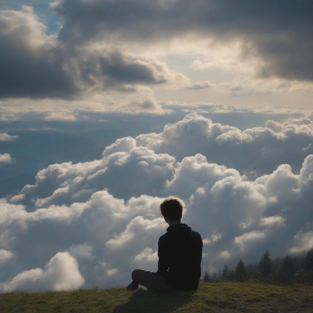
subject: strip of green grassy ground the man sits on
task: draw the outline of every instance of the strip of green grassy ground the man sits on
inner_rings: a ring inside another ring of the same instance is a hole
[[[166,294],[153,290],[12,292],[0,295],[1,313],[195,313],[313,312],[313,286],[200,283],[196,292]]]

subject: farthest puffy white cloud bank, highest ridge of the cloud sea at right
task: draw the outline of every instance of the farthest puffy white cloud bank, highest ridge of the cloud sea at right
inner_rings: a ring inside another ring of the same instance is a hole
[[[270,173],[282,163],[300,170],[303,157],[313,152],[310,148],[301,151],[313,142],[312,114],[290,118],[284,123],[267,121],[264,127],[242,131],[190,113],[183,120],[164,126],[161,133],[139,135],[136,141],[137,146],[146,146],[158,153],[167,152],[178,160],[201,153],[209,162],[239,171]],[[291,151],[290,146],[293,147]]]

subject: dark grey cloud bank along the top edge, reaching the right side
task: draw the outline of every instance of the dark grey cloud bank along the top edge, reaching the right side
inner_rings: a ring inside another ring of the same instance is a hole
[[[52,7],[64,18],[63,42],[155,42],[187,33],[242,39],[242,58],[257,54],[266,63],[259,75],[313,80],[312,1],[59,0]]]

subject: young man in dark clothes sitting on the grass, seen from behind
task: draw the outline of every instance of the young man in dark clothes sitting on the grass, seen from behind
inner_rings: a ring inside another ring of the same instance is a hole
[[[201,277],[202,238],[182,223],[182,203],[177,198],[165,199],[160,209],[169,227],[159,238],[158,270],[135,269],[127,289],[135,290],[140,284],[163,291],[197,290]]]

